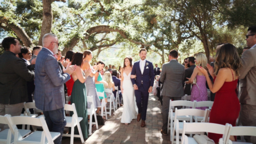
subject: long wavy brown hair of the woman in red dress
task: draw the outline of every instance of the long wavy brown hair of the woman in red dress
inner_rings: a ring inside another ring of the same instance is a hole
[[[217,76],[219,70],[224,67],[233,69],[236,71],[236,75],[239,76],[238,70],[241,66],[241,59],[236,47],[230,43],[220,45],[219,49],[217,49],[214,63],[215,76]]]

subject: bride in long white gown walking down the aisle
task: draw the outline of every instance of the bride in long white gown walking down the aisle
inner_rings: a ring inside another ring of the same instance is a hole
[[[123,68],[121,68],[121,92],[123,97],[121,123],[125,123],[125,125],[128,125],[133,119],[137,118],[134,88],[131,81],[132,61],[133,59],[130,56],[124,58]]]

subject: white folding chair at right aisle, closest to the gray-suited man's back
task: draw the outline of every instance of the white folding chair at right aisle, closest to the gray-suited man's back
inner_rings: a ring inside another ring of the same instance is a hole
[[[170,136],[173,134],[173,121],[174,121],[174,116],[175,112],[173,112],[173,109],[175,106],[184,106],[184,107],[191,107],[195,108],[196,106],[196,101],[191,102],[191,101],[172,101],[170,100],[170,105],[169,105],[169,113],[168,113],[168,124],[167,124],[167,133],[169,132],[170,128]],[[179,116],[178,119],[180,121],[190,121],[191,116]]]

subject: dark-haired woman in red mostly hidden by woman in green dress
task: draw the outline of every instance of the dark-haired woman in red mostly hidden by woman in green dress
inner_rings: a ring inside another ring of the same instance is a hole
[[[67,67],[67,66],[65,66],[65,64],[64,64],[64,61],[65,61],[65,60],[66,60],[67,62],[70,61],[70,62],[72,63],[72,57],[73,57],[74,54],[75,54],[74,51],[68,51],[68,52],[66,53],[66,56],[65,56],[64,60],[61,62],[64,67]],[[65,62],[66,62],[66,61],[65,61]],[[72,92],[72,89],[73,89],[73,85],[74,85],[74,80],[73,80],[73,78],[72,78],[72,75],[71,75],[70,77],[71,77],[71,79],[66,82],[68,96],[71,95],[71,92]]]

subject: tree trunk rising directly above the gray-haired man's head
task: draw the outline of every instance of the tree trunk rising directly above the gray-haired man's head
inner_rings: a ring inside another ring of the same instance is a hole
[[[42,27],[41,27],[41,35],[38,41],[38,45],[42,45],[42,37],[45,34],[51,33],[52,31],[52,21],[53,21],[53,14],[52,14],[52,0],[42,0]]]

